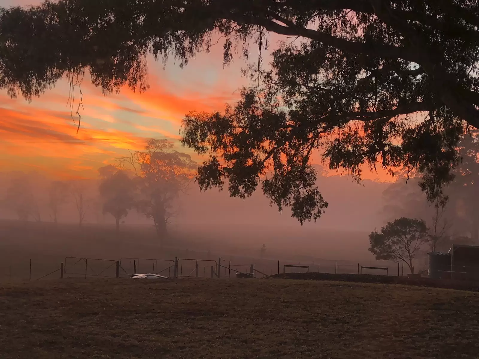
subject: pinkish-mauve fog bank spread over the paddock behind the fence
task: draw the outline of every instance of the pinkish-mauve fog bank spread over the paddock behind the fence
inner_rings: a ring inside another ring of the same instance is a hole
[[[105,168],[103,175],[117,170]],[[0,244],[2,254],[8,257],[8,252],[15,250],[18,256],[26,256],[26,253],[22,254],[25,247],[37,248],[36,252],[55,252],[60,241],[63,248],[61,255],[76,257],[97,258],[100,253],[113,255],[112,249],[108,249],[113,245],[115,255],[120,257],[143,246],[138,249],[137,256],[150,258],[148,254],[151,248],[155,248],[156,258],[159,258],[158,248],[165,246],[171,251],[168,254],[164,252],[164,256],[172,256],[175,250],[190,249],[222,256],[259,258],[260,248],[264,245],[267,258],[374,261],[373,254],[368,251],[368,235],[386,222],[409,216],[422,218],[429,228],[433,227],[434,207],[425,200],[417,179],[411,179],[408,184],[402,177],[395,183],[364,180],[358,184],[348,176],[325,175],[319,166],[317,170],[318,187],[329,202],[317,222],[300,225],[297,219],[291,217],[288,208],[279,213],[261,189],[250,198],[241,200],[229,197],[227,190],[201,192],[198,185],[189,180],[171,205],[174,211],[171,211],[164,233],[151,216],[148,218],[148,211],[137,210],[138,206],[131,205],[127,215],[119,219],[119,232],[116,234],[115,218],[111,211],[104,210],[106,200],[104,193],[100,193],[104,178],[100,174],[96,179],[56,182],[57,179],[41,172],[1,172],[0,218],[4,220],[3,224],[18,223],[21,228],[31,223],[28,233],[19,234],[11,228],[4,231]],[[51,232],[54,227],[48,227],[50,234],[46,234],[45,230],[40,234],[38,228],[43,227],[33,227],[32,224],[54,224],[52,188],[58,188],[58,183],[65,185],[65,191],[56,197],[57,222],[71,229],[64,229],[70,234],[55,239],[50,238],[57,236]],[[82,201],[80,212],[79,193]],[[445,250],[451,240],[468,244],[477,241],[474,238],[476,230],[468,229],[477,227],[466,225],[460,216],[462,202],[456,197],[452,197],[441,219],[443,227],[449,231],[449,239],[444,240],[444,248],[441,247]],[[24,210],[24,206],[28,209]],[[22,218],[25,211],[28,214]],[[475,222],[472,221],[472,224]],[[88,231],[79,231],[79,227],[85,226]],[[94,241],[93,237],[96,238]],[[453,237],[458,239],[451,239]]]

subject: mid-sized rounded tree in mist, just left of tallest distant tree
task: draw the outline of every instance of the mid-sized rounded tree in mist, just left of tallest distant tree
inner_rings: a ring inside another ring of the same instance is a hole
[[[136,183],[125,171],[111,165],[99,168],[98,172],[102,178],[99,191],[103,199],[103,213],[114,217],[118,231],[121,219],[135,205]]]

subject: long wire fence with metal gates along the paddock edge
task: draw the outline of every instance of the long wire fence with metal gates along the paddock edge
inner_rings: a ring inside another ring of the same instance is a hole
[[[249,263],[248,263],[249,262]],[[463,278],[466,269],[461,269]],[[449,271],[451,271],[449,269]],[[344,260],[294,261],[274,259],[204,258],[80,258],[66,257],[62,263],[45,264],[35,260],[0,266],[0,282],[48,280],[69,277],[129,278],[135,274],[155,273],[168,278],[263,278],[277,273],[322,272],[337,274],[376,274],[405,276],[409,270],[391,262],[353,262]],[[479,272],[479,271],[478,271]],[[444,275],[447,276],[447,275]],[[453,278],[460,275],[453,274]],[[478,277],[479,278],[479,277]]]

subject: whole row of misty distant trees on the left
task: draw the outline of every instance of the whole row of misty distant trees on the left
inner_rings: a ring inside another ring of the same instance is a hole
[[[54,223],[69,204],[78,214],[80,227],[89,211],[109,213],[115,219],[117,231],[122,220],[135,209],[153,221],[161,243],[170,219],[178,213],[176,200],[194,177],[196,163],[189,155],[175,151],[167,140],[151,139],[143,151],[117,158],[116,164],[99,168],[99,181],[53,180],[46,185],[46,191],[34,191],[32,176],[13,176],[1,204],[25,222],[41,222],[41,213],[46,211],[40,208],[44,208]]]

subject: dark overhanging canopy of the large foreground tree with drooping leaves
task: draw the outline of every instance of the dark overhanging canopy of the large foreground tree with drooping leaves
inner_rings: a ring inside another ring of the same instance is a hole
[[[25,98],[90,71],[105,92],[146,90],[146,56],[183,63],[224,39],[227,65],[263,34],[297,38],[225,112],[188,114],[182,144],[209,155],[197,180],[251,195],[262,181],[301,223],[327,202],[310,165],[423,173],[434,200],[457,142],[479,128],[479,2],[452,0],[60,0],[0,14],[0,87]]]

